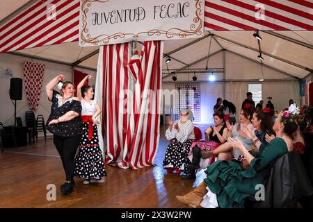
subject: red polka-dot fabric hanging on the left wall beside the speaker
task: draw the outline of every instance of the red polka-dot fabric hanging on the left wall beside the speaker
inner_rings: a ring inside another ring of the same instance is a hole
[[[45,65],[35,62],[23,62],[24,87],[29,108],[36,111],[41,96],[42,81],[45,76]]]

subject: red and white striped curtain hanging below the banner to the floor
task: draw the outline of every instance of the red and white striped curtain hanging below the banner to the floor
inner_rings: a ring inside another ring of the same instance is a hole
[[[163,42],[144,42],[140,58],[129,44],[101,46],[95,99],[102,105],[106,164],[138,169],[153,164],[159,145]],[[100,130],[99,130],[100,131]]]

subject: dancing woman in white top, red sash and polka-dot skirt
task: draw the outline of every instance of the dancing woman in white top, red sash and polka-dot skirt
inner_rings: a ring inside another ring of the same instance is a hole
[[[83,86],[88,78],[86,76],[77,85],[77,97],[81,100],[81,120],[83,121],[83,135],[79,143],[79,151],[75,158],[74,176],[84,178],[84,185],[89,182],[104,182],[106,171],[102,150],[99,147],[96,117],[101,113],[99,104],[93,99],[93,88],[89,85]],[[83,97],[83,98],[82,98]]]

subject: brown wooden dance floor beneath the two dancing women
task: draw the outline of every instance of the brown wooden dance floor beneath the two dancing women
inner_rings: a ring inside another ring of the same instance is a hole
[[[203,130],[202,130],[203,132]],[[72,194],[62,196],[65,176],[52,139],[38,140],[0,153],[0,207],[161,207],[182,208],[175,196],[191,191],[200,181],[182,180],[162,167],[168,141],[161,126],[156,166],[136,171],[106,166],[104,183],[83,185],[75,178]],[[47,200],[47,185],[56,185],[56,200]]]

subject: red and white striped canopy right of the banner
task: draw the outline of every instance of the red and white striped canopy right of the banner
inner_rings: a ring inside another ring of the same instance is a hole
[[[312,0],[206,0],[204,29],[312,31],[312,2]]]

